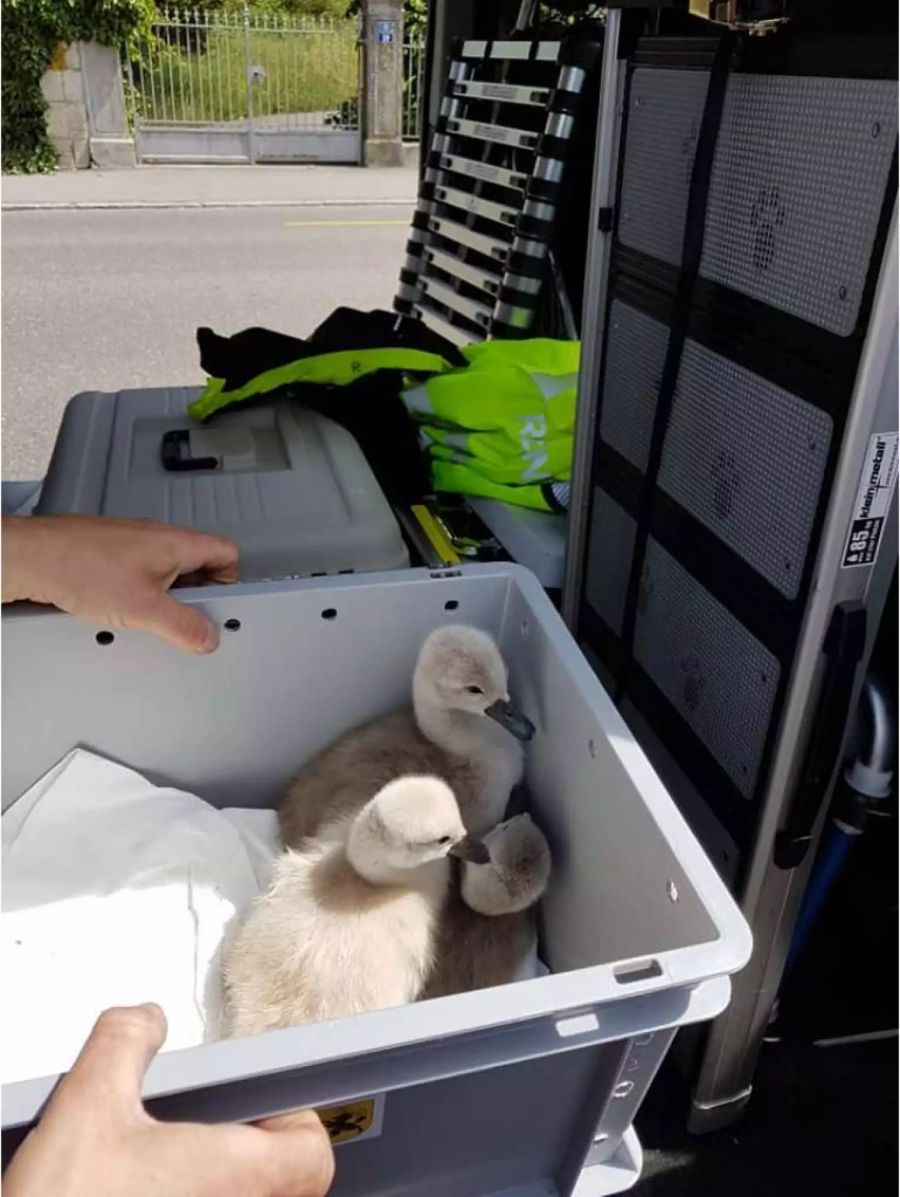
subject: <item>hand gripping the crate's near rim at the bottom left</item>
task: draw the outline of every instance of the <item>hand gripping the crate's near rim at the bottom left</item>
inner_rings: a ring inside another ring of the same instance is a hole
[[[4,1177],[4,1197],[323,1197],[334,1154],[305,1110],[256,1125],[160,1123],[141,1104],[157,1005],[107,1010]]]

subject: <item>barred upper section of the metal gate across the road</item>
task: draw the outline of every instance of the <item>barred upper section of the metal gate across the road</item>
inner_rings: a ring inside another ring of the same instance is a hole
[[[359,22],[163,10],[127,69],[136,124],[359,128]]]

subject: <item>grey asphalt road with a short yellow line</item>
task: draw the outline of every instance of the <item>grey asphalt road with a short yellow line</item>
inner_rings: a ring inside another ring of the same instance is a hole
[[[43,476],[81,390],[200,384],[195,330],[304,336],[390,306],[412,208],[5,212],[2,476]]]

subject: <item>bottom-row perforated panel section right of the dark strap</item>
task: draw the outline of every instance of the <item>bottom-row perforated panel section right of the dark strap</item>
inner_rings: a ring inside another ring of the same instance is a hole
[[[652,537],[640,581],[634,657],[749,797],[780,667]]]

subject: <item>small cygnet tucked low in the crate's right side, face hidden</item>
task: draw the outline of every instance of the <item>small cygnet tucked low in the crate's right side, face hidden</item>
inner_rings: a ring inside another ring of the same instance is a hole
[[[440,916],[437,959],[422,998],[466,994],[517,980],[535,949],[535,905],[551,876],[551,850],[528,814],[484,839],[488,859],[462,865]]]

